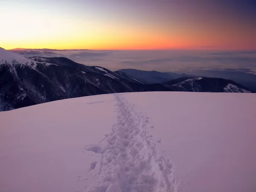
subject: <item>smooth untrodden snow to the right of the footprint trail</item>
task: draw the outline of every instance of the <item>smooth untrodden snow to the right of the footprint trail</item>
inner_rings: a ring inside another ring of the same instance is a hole
[[[179,180],[179,192],[256,191],[256,94],[137,93],[125,99],[141,108],[162,139]],[[175,102],[174,102],[175,101]]]

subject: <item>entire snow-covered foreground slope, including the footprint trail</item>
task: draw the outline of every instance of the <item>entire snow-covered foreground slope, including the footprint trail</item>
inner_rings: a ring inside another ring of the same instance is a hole
[[[0,112],[1,192],[255,192],[255,103],[144,92]]]

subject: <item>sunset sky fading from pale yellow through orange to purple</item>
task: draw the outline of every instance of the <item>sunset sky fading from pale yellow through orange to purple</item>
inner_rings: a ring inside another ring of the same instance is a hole
[[[0,0],[5,49],[256,49],[255,0]]]

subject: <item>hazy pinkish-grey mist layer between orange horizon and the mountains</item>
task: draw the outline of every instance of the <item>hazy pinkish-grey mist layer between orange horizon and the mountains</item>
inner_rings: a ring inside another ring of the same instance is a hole
[[[195,69],[256,71],[256,51],[85,50],[57,53],[82,64],[102,66],[110,70],[133,68],[163,72]]]

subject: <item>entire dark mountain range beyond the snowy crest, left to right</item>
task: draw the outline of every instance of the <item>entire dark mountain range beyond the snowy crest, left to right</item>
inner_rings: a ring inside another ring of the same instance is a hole
[[[250,92],[226,79],[157,71],[112,72],[64,57],[25,57],[0,48],[0,111],[59,99],[141,91]]]

